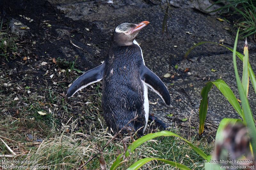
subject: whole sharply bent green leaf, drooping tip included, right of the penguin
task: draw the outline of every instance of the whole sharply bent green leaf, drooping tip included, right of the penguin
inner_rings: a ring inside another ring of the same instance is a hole
[[[233,91],[227,85],[227,83],[221,79],[217,79],[216,81],[209,81],[206,83],[206,86],[202,89],[201,96],[202,100],[199,106],[199,135],[202,135],[204,132],[204,122],[207,115],[208,110],[208,93],[212,89],[212,86],[215,85],[223,96],[228,100],[228,102],[233,106],[236,112],[244,118],[243,111],[234,95]]]

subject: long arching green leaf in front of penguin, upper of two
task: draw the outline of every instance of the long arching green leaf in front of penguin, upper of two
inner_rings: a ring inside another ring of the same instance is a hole
[[[141,144],[147,142],[148,140],[151,140],[153,138],[159,137],[159,136],[175,136],[178,137],[182,140],[184,140],[192,149],[194,149],[202,158],[206,159],[207,155],[199,148],[197,148],[195,145],[193,145],[192,143],[190,143],[188,140],[186,140],[185,138],[182,138],[181,136],[177,135],[176,133],[173,133],[171,131],[160,131],[160,132],[156,132],[156,133],[149,133],[137,140],[135,140],[134,142],[132,142],[131,145],[128,146],[127,151],[125,152],[125,157],[128,157],[130,155],[130,153],[132,153],[138,146],[140,146]],[[110,170],[115,170],[123,161],[123,153],[119,154],[116,158],[116,161],[112,164],[112,166],[110,167]]]

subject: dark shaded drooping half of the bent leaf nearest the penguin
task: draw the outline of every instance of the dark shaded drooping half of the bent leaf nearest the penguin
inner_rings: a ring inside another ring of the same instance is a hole
[[[199,135],[202,135],[204,132],[204,122],[208,110],[208,93],[212,89],[212,82],[207,82],[206,86],[201,91],[202,100],[199,106]]]

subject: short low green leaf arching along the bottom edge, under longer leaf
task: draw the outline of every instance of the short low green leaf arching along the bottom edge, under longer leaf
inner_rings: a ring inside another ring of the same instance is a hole
[[[144,164],[146,164],[147,162],[151,161],[151,160],[160,160],[166,164],[175,166],[176,168],[182,169],[182,170],[190,170],[187,166],[170,161],[170,160],[165,160],[165,159],[160,159],[160,158],[143,158],[138,160],[137,162],[135,162],[134,164],[132,164],[129,168],[127,168],[127,170],[137,170],[139,169],[141,166],[143,166]]]

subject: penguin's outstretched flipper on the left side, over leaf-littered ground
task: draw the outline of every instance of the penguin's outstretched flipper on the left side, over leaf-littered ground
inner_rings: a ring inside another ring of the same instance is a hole
[[[78,77],[69,87],[67,97],[72,97],[77,91],[84,89],[92,83],[100,81],[103,78],[105,65],[104,62],[100,66],[95,67]]]

